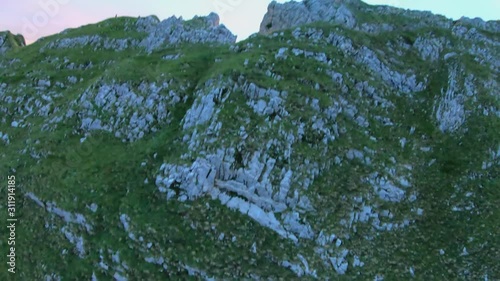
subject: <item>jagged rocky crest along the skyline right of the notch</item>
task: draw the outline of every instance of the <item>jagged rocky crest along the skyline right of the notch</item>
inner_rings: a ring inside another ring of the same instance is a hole
[[[391,25],[390,21],[386,20],[390,16],[400,20],[399,22],[393,20],[397,26]],[[390,6],[371,6],[360,0],[305,0],[283,4],[271,2],[261,22],[260,33],[270,34],[311,22],[331,22],[367,33],[380,33],[394,29],[418,30],[424,27],[452,28],[454,24],[462,23],[490,32],[500,30],[499,21],[484,22],[479,18],[463,17],[453,23],[450,19],[430,12]]]

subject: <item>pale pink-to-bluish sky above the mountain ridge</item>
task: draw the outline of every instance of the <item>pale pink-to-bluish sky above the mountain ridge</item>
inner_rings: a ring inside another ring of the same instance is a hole
[[[70,27],[119,16],[172,15],[190,19],[216,12],[238,41],[258,32],[271,0],[0,0],[0,31],[21,33],[27,43]],[[277,2],[287,2],[278,0]],[[458,19],[461,16],[500,19],[500,0],[365,0],[368,4],[427,10]]]

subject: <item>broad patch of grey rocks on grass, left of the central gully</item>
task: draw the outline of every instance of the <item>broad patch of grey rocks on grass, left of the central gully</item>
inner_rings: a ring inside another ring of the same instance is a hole
[[[157,130],[155,124],[168,123],[168,108],[182,101],[170,84],[142,83],[138,89],[126,83],[101,84],[97,90],[86,90],[71,104],[67,115],[78,111],[80,129],[84,131],[105,130],[124,141],[141,139]],[[168,94],[161,94],[167,91]],[[101,120],[95,108],[113,117]]]

